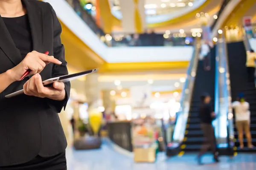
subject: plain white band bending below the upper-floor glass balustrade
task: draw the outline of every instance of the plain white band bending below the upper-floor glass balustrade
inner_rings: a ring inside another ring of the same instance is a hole
[[[102,43],[65,0],[44,0],[58,18],[106,62],[190,61],[193,47],[113,47]]]

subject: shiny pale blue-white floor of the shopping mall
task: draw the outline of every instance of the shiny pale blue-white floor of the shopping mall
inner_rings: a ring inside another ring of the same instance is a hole
[[[67,149],[68,170],[256,170],[256,154],[238,154],[231,160],[222,156],[218,164],[207,155],[203,161],[204,165],[198,165],[195,155],[166,158],[160,153],[154,164],[134,163],[132,157],[122,155],[105,144],[99,150]]]

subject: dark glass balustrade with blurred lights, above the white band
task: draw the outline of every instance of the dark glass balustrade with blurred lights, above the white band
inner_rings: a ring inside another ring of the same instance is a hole
[[[86,10],[79,0],[66,0],[74,9],[76,14],[98,35],[99,39],[109,47],[136,47],[136,46],[191,46],[194,45],[194,37],[188,37],[185,33],[155,34],[127,34],[115,33],[105,34],[105,32],[96,24],[93,17],[95,11]],[[149,30],[148,30],[149,31]],[[86,33],[85,33],[86,34]]]

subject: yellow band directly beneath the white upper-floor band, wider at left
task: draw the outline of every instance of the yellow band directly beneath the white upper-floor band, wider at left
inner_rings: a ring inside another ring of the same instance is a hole
[[[60,21],[61,22],[61,21]],[[61,22],[61,40],[65,45],[66,60],[71,68],[86,70],[99,68],[105,72],[136,72],[152,70],[170,70],[187,68],[189,62],[138,62],[138,63],[107,63],[90,47],[82,42],[70,29]]]

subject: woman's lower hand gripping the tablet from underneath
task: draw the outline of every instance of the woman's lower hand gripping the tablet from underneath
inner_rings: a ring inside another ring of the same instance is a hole
[[[24,93],[28,96],[49,98],[62,101],[65,99],[66,92],[63,82],[54,82],[53,87],[44,87],[40,74],[35,74],[24,85]]]

